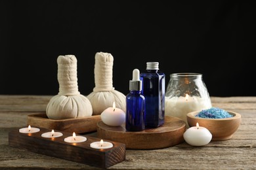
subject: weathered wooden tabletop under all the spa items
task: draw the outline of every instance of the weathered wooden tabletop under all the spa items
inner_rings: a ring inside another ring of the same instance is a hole
[[[0,169],[98,169],[9,146],[9,131],[27,126],[28,114],[45,112],[51,97],[0,95]],[[211,97],[211,102],[242,115],[232,139],[200,147],[181,143],[158,150],[126,150],[125,161],[109,169],[256,169],[256,97]]]

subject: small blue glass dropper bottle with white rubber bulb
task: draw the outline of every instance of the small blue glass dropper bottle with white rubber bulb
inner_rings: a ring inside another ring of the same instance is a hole
[[[145,97],[141,94],[139,69],[133,70],[133,80],[129,82],[130,93],[126,95],[125,129],[142,131],[145,129]]]

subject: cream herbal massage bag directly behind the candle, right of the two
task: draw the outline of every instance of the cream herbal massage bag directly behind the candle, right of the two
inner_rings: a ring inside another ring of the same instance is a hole
[[[125,95],[113,87],[114,58],[110,53],[95,54],[95,88],[87,95],[93,106],[93,115],[101,114],[116,103],[116,107],[125,111]]]

